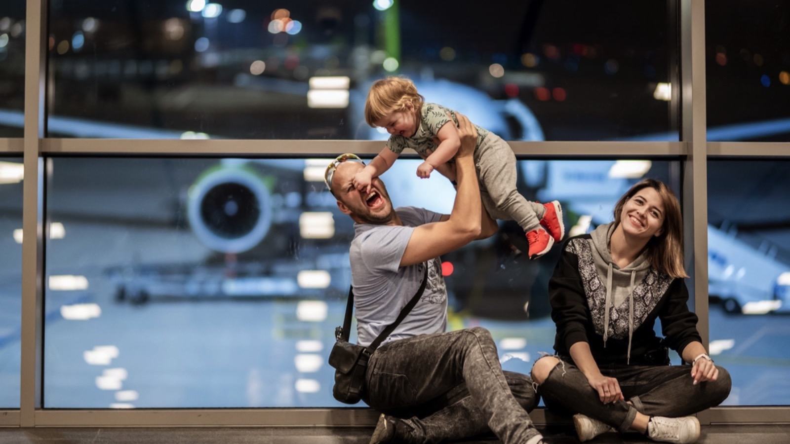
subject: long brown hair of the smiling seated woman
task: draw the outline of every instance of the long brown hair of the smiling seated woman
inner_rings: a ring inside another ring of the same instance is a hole
[[[688,277],[683,266],[683,214],[675,193],[664,182],[644,179],[631,186],[630,190],[615,205],[615,228],[620,224],[623,205],[645,188],[653,188],[664,204],[664,225],[660,235],[653,236],[645,248],[650,265],[670,277]]]

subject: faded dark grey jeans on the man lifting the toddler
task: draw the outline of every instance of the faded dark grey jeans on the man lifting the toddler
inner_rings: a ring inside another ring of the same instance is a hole
[[[371,357],[363,399],[406,418],[409,442],[494,431],[515,444],[539,435],[527,413],[537,404],[532,379],[502,372],[491,333],[480,327],[382,345]]]

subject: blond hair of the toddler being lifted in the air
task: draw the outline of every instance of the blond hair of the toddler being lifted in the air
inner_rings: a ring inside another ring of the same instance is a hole
[[[365,121],[375,127],[376,122],[389,113],[404,111],[407,103],[414,109],[423,107],[425,98],[417,92],[417,87],[405,77],[386,77],[373,82],[365,101]]]

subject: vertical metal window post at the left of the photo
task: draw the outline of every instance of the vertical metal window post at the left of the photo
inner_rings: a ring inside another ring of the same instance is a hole
[[[20,425],[36,425],[42,371],[42,178],[44,82],[47,53],[45,0],[27,0],[24,55],[24,182],[22,207],[22,313]]]

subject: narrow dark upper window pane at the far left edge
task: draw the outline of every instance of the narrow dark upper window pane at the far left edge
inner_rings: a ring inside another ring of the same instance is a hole
[[[0,137],[22,137],[24,0],[0,3]]]

